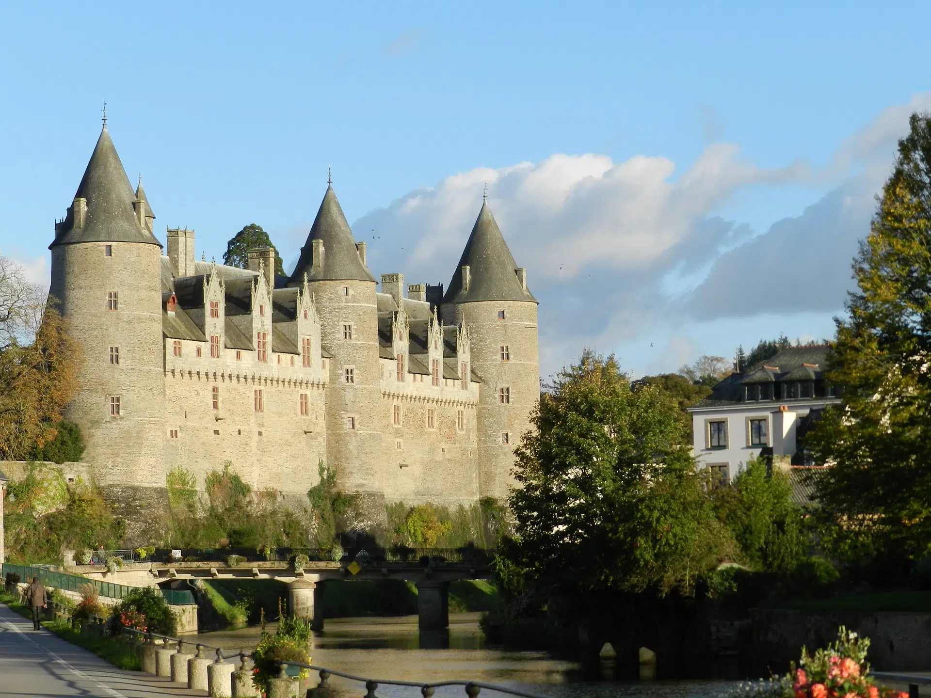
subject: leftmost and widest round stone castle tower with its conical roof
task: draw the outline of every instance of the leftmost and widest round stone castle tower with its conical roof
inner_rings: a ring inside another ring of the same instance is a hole
[[[142,186],[132,191],[104,120],[74,202],[55,225],[50,293],[83,347],[80,387],[65,418],[80,425],[84,459],[104,495],[118,513],[134,511],[140,527],[164,512],[153,498],[165,492],[162,246],[154,219]]]

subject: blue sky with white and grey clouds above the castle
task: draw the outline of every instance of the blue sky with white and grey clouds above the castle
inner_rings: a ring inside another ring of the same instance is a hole
[[[926,3],[0,3],[0,254],[47,250],[107,104],[128,176],[290,272],[332,168],[376,277],[449,283],[482,191],[541,373],[820,340],[911,112]]]

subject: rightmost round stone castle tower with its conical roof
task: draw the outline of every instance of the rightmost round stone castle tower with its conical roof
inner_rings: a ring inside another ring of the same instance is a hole
[[[537,300],[484,201],[442,300],[443,320],[469,332],[481,378],[477,412],[479,493],[504,500],[514,449],[540,399]]]

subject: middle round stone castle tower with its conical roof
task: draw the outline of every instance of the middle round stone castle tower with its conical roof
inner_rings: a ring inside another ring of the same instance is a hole
[[[364,243],[356,243],[331,185],[288,285],[302,285],[304,275],[320,316],[321,346],[332,356],[328,464],[335,466],[342,490],[360,494],[371,512],[384,511],[376,282],[365,264]]]

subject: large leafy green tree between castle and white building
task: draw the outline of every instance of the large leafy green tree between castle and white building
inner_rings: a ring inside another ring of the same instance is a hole
[[[516,537],[499,570],[563,595],[663,596],[730,555],[675,402],[653,385],[632,389],[614,356],[587,351],[532,423],[516,451]]]

